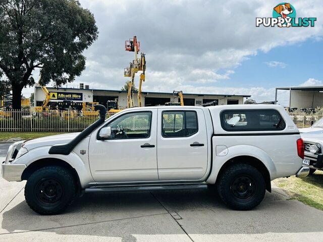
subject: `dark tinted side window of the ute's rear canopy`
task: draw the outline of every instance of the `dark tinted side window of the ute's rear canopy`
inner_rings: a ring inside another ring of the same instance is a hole
[[[286,127],[275,109],[224,110],[220,115],[226,131],[280,131]]]

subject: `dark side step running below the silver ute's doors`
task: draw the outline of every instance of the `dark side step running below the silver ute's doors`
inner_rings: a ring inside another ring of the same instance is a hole
[[[85,193],[157,191],[157,190],[190,190],[190,189],[207,189],[207,184],[95,187],[95,188],[86,188]]]

